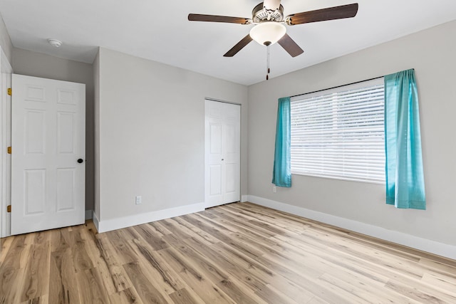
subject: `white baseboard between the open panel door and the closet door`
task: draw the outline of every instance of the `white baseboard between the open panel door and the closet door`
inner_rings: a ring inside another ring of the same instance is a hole
[[[132,216],[123,216],[116,219],[107,219],[98,221],[97,215],[93,215],[93,223],[97,227],[98,233],[121,229],[125,227],[150,223],[151,221],[160,221],[160,219],[170,219],[171,217],[191,214],[204,210],[204,203],[180,206],[170,209],[147,212],[143,214],[135,214]],[[96,223],[95,223],[96,219]]]

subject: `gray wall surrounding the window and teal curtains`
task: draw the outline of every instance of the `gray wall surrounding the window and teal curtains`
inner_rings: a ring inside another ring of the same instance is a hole
[[[249,195],[456,245],[456,21],[249,87]],[[304,54],[305,56],[305,54]],[[277,99],[415,68],[427,210],[385,204],[385,186],[293,175],[272,192]]]

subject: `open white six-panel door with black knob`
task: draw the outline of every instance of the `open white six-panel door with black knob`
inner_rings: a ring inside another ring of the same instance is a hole
[[[13,74],[11,234],[83,224],[86,85]]]

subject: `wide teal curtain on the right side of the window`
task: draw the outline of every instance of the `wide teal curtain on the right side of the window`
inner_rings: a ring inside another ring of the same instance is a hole
[[[415,70],[385,76],[386,204],[426,209]]]

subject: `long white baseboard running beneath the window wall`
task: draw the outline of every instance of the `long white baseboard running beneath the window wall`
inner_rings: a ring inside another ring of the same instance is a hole
[[[307,219],[321,221],[325,224],[338,226],[343,229],[358,232],[360,234],[366,234],[378,239],[398,243],[400,245],[415,248],[420,251],[426,251],[456,260],[456,246],[419,238],[418,236],[412,236],[410,234],[404,234],[403,232],[384,229],[382,227],[361,223],[359,221],[353,221],[351,219],[345,219],[339,216],[333,216],[331,214],[324,214],[322,212],[284,204],[279,201],[272,201],[271,199],[264,199],[259,196],[249,195],[248,201],[261,206],[266,206],[279,211],[296,214]]]

